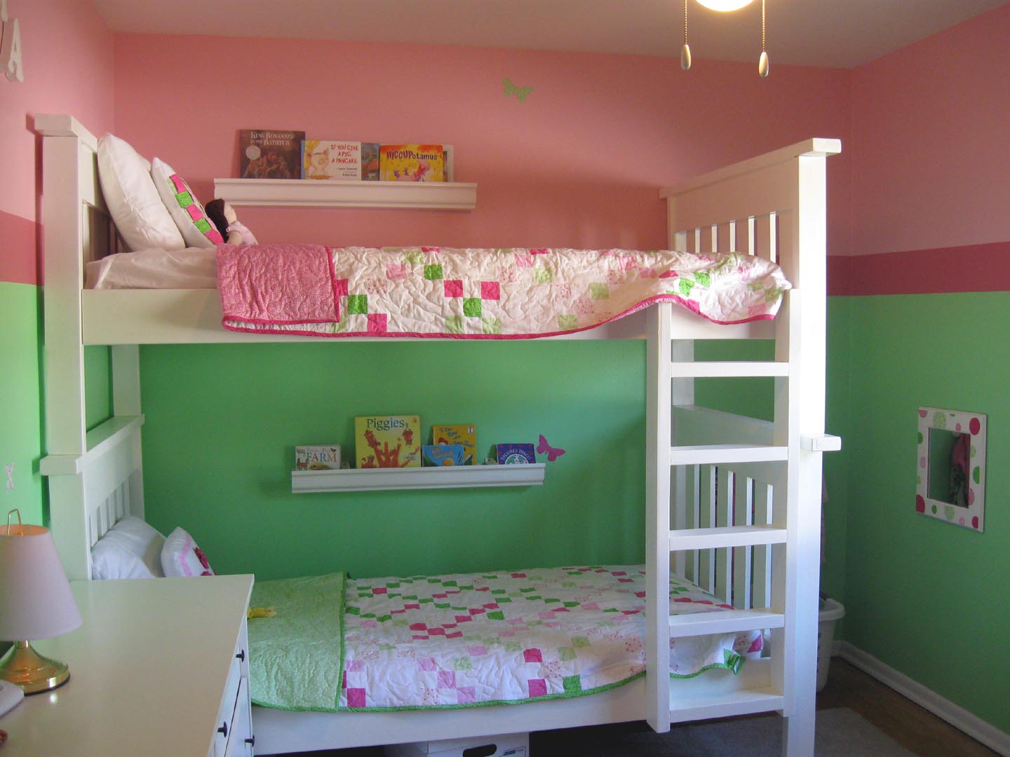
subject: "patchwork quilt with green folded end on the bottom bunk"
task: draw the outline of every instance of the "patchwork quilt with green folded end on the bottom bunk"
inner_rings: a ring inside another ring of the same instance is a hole
[[[320,712],[467,708],[581,696],[644,674],[644,569],[591,566],[257,583],[252,700]],[[672,577],[673,615],[729,606]],[[672,640],[670,674],[734,672],[761,632]]]

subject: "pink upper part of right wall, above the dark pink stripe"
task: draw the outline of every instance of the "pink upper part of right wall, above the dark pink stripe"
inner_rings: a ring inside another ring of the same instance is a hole
[[[1010,5],[852,72],[852,254],[1010,240]]]

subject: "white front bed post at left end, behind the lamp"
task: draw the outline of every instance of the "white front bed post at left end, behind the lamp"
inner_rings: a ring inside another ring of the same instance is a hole
[[[45,446],[48,455],[81,455],[87,451],[84,395],[84,348],[81,344],[81,285],[84,261],[82,197],[96,191],[83,187],[82,146],[98,148],[94,136],[70,116],[37,116],[42,134],[42,240],[45,293]],[[95,177],[91,177],[94,181]],[[46,467],[40,465],[41,472]],[[81,476],[49,476],[49,522],[59,523],[53,538],[71,578],[90,577],[87,564],[87,517]]]

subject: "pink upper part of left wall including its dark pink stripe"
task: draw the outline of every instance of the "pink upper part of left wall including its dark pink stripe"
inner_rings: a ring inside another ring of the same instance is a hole
[[[21,29],[24,82],[0,77],[0,281],[37,281],[41,196],[36,113],[73,113],[89,128],[112,127],[113,35],[90,3],[10,0]]]

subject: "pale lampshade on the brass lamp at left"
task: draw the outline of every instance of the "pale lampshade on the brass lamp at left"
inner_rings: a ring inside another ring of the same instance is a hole
[[[49,530],[0,527],[0,639],[47,639],[80,625]]]

